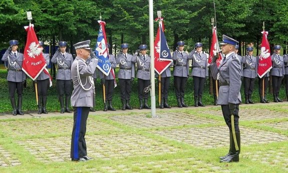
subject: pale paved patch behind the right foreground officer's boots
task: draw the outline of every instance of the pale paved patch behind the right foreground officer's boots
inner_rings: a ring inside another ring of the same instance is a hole
[[[288,140],[288,137],[253,128],[241,127],[241,145],[262,144]],[[151,133],[183,141],[193,146],[215,148],[229,145],[228,127],[185,128],[172,130],[154,130]]]

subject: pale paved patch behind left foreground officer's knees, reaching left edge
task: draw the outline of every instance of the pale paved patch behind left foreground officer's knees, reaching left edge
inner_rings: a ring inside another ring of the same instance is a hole
[[[73,119],[44,119],[40,121],[6,121],[0,122],[0,131],[6,135],[17,137],[26,135],[59,134],[72,133]],[[122,129],[97,121],[93,118],[87,120],[87,130],[89,131],[121,131]]]

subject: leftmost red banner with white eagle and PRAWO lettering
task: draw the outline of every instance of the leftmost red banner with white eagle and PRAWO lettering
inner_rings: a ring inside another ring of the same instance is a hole
[[[50,77],[50,85],[52,78],[46,68],[47,64],[39,46],[37,36],[34,31],[34,25],[24,27],[27,31],[27,42],[24,50],[24,59],[22,70],[32,79],[35,80],[39,74],[44,72]]]

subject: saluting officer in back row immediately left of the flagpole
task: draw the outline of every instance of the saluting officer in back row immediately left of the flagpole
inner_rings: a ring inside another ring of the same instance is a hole
[[[139,98],[139,109],[143,109],[143,99],[144,108],[151,109],[148,106],[148,92],[144,92],[150,84],[150,61],[151,58],[146,55],[147,45],[140,45],[138,47],[140,50],[139,56],[137,56],[137,78],[138,78],[138,98]]]

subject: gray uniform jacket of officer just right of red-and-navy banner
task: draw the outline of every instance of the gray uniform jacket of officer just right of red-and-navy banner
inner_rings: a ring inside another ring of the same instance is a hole
[[[189,59],[186,52],[182,52],[183,56],[179,51],[173,52],[172,60],[176,61],[174,63],[173,76],[188,77],[189,75]]]

